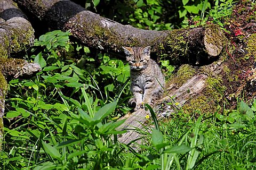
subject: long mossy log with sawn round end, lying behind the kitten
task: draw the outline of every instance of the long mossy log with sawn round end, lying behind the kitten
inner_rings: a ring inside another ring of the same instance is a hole
[[[85,10],[71,1],[19,0],[18,5],[48,27],[71,30],[89,47],[123,54],[121,46],[151,46],[151,54],[172,64],[203,64],[223,48],[223,33],[216,25],[173,31],[151,31],[122,25]]]

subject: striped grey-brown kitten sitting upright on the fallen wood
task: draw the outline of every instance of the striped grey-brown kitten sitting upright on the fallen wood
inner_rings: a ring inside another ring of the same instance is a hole
[[[150,58],[150,46],[123,47],[131,70],[130,105],[134,111],[143,108],[143,104],[154,104],[164,93],[165,78],[157,63]]]

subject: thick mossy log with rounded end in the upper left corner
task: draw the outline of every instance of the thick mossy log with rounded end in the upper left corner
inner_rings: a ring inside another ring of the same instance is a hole
[[[13,1],[0,0],[0,56],[25,52],[34,43],[34,29]]]

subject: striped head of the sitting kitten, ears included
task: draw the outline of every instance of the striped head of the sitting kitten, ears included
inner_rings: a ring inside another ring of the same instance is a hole
[[[144,70],[150,60],[150,46],[142,47],[123,47],[126,60],[129,62],[131,70]]]

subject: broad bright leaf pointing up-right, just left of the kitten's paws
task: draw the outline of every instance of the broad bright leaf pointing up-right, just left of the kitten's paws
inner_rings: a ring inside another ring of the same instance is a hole
[[[117,101],[114,101],[113,103],[109,103],[99,109],[97,113],[94,115],[94,120],[101,121],[103,118],[107,117],[110,113],[115,111],[117,105]]]

